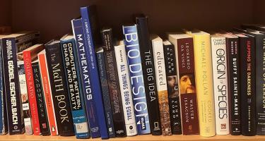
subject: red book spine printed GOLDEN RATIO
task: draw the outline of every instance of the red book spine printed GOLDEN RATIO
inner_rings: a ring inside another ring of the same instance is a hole
[[[40,135],[40,123],[37,112],[37,100],[35,94],[35,85],[33,80],[33,68],[31,66],[31,55],[30,51],[23,51],[23,59],[25,66],[25,77],[27,80],[28,88],[28,100],[30,102],[30,114],[33,121],[33,132],[34,135]]]

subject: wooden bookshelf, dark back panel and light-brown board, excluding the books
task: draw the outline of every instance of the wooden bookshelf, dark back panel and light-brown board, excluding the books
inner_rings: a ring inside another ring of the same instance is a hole
[[[182,28],[201,30],[229,30],[242,23],[265,24],[264,0],[1,0],[0,26],[11,25],[14,32],[38,30],[40,42],[61,37],[71,32],[70,20],[79,16],[79,7],[89,4],[98,6],[100,25],[113,27],[114,35],[122,37],[122,23],[131,23],[134,13],[145,13],[149,17],[151,32],[163,35],[167,31]],[[76,137],[1,135],[0,140],[77,140]],[[88,139],[88,140],[100,140]],[[224,140],[224,141],[264,141],[265,136],[200,135],[153,136],[113,138],[110,140]]]

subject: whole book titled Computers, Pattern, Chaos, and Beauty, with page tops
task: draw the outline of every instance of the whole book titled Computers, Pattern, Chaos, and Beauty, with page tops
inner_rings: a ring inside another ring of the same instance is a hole
[[[75,40],[72,35],[67,35],[60,39],[60,44],[76,138],[88,138],[90,137],[89,126],[83,102],[83,88],[80,87],[81,78],[75,56]]]

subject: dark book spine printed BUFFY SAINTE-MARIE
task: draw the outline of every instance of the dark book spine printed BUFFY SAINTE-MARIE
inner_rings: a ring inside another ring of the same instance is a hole
[[[240,110],[240,56],[238,38],[227,38],[228,52],[228,95],[230,103],[230,134],[241,134],[241,110]]]

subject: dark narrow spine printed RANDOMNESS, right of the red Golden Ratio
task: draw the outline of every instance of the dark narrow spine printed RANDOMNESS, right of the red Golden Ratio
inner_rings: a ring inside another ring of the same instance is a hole
[[[40,78],[39,62],[31,64],[33,68],[33,80],[35,84],[35,94],[37,98],[37,111],[39,114],[40,132],[42,135],[50,135],[49,133],[49,122],[47,118],[45,98],[42,89],[42,80]]]

